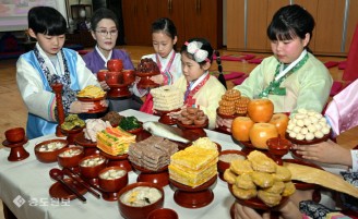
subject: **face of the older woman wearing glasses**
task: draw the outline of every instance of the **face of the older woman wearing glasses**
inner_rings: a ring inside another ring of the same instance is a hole
[[[118,29],[116,23],[110,19],[98,22],[96,29],[92,31],[93,38],[97,41],[100,51],[109,52],[116,47]]]

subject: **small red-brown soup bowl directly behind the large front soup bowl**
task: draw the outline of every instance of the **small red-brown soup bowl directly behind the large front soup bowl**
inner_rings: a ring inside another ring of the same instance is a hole
[[[122,171],[123,175],[116,178],[106,178],[108,171]],[[128,172],[121,167],[109,167],[99,171],[98,173],[98,185],[106,192],[119,192],[128,184]]]

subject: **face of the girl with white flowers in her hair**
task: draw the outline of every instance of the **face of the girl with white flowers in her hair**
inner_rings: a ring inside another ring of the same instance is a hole
[[[181,69],[182,74],[186,76],[187,82],[192,82],[198,80],[201,75],[204,74],[210,68],[210,63],[206,62],[203,66],[200,66],[198,62],[192,59],[189,59],[186,52],[181,53]]]

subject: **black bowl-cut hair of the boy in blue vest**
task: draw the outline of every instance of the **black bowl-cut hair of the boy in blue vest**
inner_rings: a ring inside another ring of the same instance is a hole
[[[49,36],[63,35],[67,31],[67,22],[62,14],[51,7],[34,7],[27,14],[28,28],[35,34]]]

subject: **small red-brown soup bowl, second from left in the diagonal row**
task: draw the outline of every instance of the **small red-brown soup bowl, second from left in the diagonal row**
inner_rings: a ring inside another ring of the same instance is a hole
[[[79,154],[71,153],[80,150]],[[84,149],[81,146],[68,147],[57,156],[59,166],[63,168],[74,168],[79,166],[80,160],[84,157]]]

